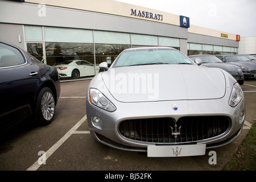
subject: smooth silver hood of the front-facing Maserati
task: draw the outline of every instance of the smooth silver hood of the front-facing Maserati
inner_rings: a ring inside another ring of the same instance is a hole
[[[225,95],[224,73],[197,65],[142,65],[102,72],[106,88],[120,102],[216,99]]]

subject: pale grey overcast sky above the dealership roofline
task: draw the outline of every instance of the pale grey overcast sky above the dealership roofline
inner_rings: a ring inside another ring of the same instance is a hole
[[[232,34],[256,36],[256,0],[116,0],[188,16],[190,23]]]

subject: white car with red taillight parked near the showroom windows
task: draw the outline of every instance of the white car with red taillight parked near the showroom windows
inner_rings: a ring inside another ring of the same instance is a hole
[[[81,76],[94,76],[94,64],[84,60],[64,61],[63,63],[56,63],[53,65],[59,72],[59,76],[79,78]],[[96,67],[96,73],[99,68]]]

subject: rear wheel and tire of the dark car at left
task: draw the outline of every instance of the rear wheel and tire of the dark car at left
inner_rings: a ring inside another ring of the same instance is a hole
[[[40,126],[49,125],[55,115],[55,97],[50,88],[40,90],[36,101],[36,122]]]

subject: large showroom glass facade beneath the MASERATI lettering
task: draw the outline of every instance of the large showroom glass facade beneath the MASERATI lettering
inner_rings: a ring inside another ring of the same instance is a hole
[[[70,60],[85,60],[96,66],[106,61],[110,65],[131,47],[180,49],[180,39],[163,36],[44,26],[24,26],[24,31],[27,51],[48,65]]]

